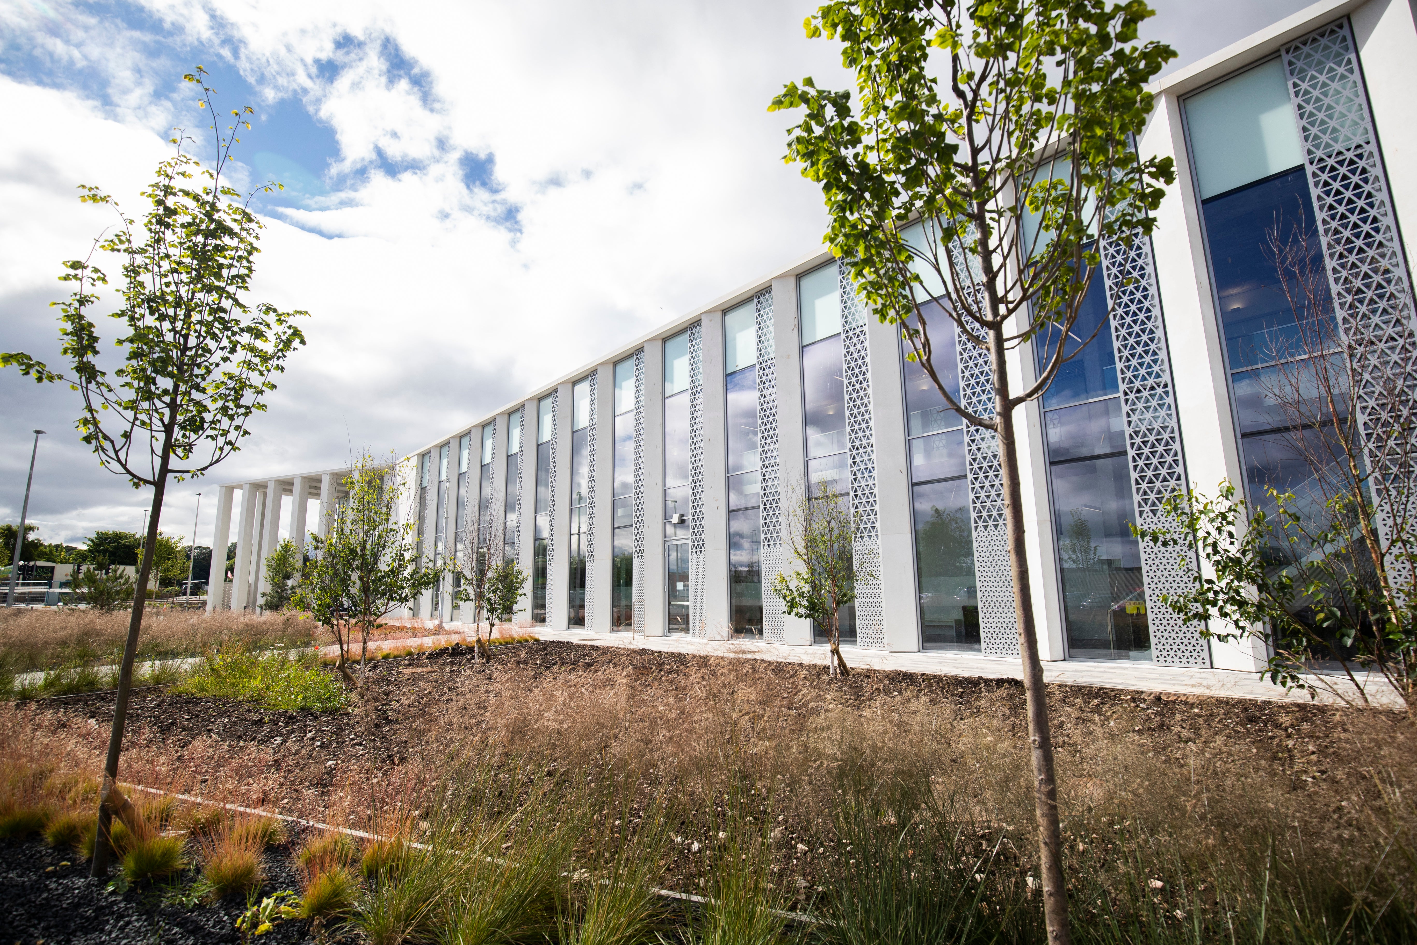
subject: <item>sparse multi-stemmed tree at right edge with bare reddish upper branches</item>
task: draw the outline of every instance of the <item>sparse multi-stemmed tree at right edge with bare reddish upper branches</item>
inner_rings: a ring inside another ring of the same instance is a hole
[[[1369,704],[1370,672],[1417,713],[1413,366],[1340,330],[1309,228],[1277,220],[1264,249],[1294,323],[1271,333],[1251,381],[1274,431],[1250,446],[1258,494],[1176,496],[1165,509],[1179,527],[1138,534],[1199,553],[1213,577],[1162,601],[1209,636],[1261,640],[1277,684]],[[1339,663],[1348,687],[1309,672],[1319,662]]]

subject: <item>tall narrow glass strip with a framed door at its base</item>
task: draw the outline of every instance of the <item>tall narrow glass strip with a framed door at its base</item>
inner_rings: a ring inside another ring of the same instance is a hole
[[[665,340],[665,629],[689,632],[689,332]]]

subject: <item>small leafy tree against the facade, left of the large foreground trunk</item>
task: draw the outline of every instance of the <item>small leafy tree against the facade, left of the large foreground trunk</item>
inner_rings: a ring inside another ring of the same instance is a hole
[[[792,503],[786,520],[786,545],[802,570],[779,574],[772,585],[784,612],[815,621],[826,630],[830,676],[852,672],[842,657],[840,613],[856,601],[856,581],[869,577],[856,570],[854,537],[849,497],[823,480]]]

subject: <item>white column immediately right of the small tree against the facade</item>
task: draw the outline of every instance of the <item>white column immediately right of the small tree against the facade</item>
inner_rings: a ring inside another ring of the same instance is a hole
[[[913,653],[920,649],[920,589],[915,579],[900,327],[883,324],[869,313],[866,344],[871,360],[871,429],[876,438],[876,514],[881,545],[886,649]]]

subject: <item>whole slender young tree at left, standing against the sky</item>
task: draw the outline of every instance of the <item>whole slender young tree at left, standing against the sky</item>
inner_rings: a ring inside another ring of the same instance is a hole
[[[184,78],[201,89],[198,105],[211,111],[214,91],[204,77],[197,67]],[[262,228],[249,204],[255,193],[273,184],[242,198],[222,174],[238,142],[235,126],[249,128],[244,119],[252,113],[249,108],[232,111],[235,120],[225,133],[213,122],[211,167],[201,167],[183,150],[190,139],[179,132],[171,139],[177,153],[157,166],[156,180],[142,193],[149,204],[142,222],[126,217],[99,188],[82,186],[79,200],[112,207],[116,227],[95,241],[86,259],[65,262],[67,272],[60,276],[75,283],[67,300],[52,303],[62,312],[61,356],[69,368],[50,370],[23,353],[0,354],[0,364],[16,366],[35,381],[62,381],[79,391],[84,409],[75,426],[82,441],[94,448],[103,468],[126,476],[135,489],[153,490],[103,766],[94,876],[108,871],[112,812],[106,798],[118,778],[133,657],[167,482],[200,476],[230,456],[249,435],[252,414],[265,409],[262,398],[275,390],[272,378],[283,370],[285,358],[305,344],[295,324],[303,312],[279,312],[268,303],[252,306],[244,298]],[[122,329],[108,343],[91,317],[99,303],[96,289],[108,283],[92,262],[96,251],[116,254],[122,265],[123,288],[111,313]]]

